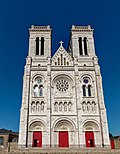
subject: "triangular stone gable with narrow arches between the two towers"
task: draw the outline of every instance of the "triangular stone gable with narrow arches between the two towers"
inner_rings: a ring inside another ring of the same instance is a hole
[[[73,65],[73,59],[61,44],[56,53],[54,54],[54,56],[52,57],[52,66],[71,66],[71,65]]]

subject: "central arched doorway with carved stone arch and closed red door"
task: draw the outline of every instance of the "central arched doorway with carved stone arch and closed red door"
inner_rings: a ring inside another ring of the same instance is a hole
[[[58,147],[69,147],[73,139],[74,126],[68,120],[60,120],[55,124],[54,132],[57,132]],[[72,136],[73,135],[73,136]]]

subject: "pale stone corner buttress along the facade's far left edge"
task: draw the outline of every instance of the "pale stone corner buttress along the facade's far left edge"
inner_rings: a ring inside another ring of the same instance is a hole
[[[28,142],[28,114],[30,96],[30,66],[31,58],[27,57],[23,78],[22,106],[20,112],[19,147],[27,147]]]

